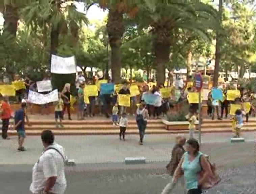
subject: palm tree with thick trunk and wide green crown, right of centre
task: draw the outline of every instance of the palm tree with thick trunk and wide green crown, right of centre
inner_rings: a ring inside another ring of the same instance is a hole
[[[165,82],[165,67],[170,61],[170,47],[175,42],[174,34],[179,29],[189,29],[202,37],[207,37],[205,29],[215,27],[216,10],[204,3],[165,3],[139,7],[136,20],[139,25],[153,34],[153,51],[157,69],[157,84]]]

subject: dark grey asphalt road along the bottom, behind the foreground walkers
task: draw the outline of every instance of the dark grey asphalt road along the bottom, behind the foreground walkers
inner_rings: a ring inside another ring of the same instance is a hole
[[[106,164],[105,164],[106,165]],[[68,167],[66,194],[160,194],[170,177],[161,164],[132,166],[132,169],[81,171],[86,167]],[[88,167],[88,166],[87,166]],[[121,167],[121,165],[120,165]],[[30,165],[1,165],[0,193],[28,194],[31,183]],[[255,163],[219,170],[222,181],[205,191],[208,194],[254,194]],[[179,190],[172,194],[180,194]]]

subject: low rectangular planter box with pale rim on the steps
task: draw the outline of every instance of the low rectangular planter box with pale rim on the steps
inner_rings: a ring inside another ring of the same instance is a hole
[[[169,122],[167,120],[162,120],[163,124],[165,125],[165,129],[168,131],[184,131],[188,130],[188,121],[173,121]],[[198,121],[196,122],[196,129],[198,129]]]

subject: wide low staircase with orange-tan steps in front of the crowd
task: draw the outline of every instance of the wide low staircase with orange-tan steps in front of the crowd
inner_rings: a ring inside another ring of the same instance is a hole
[[[50,129],[56,135],[114,135],[119,134],[119,126],[113,126],[110,120],[106,119],[85,119],[83,121],[63,121],[63,128],[56,128],[54,120],[30,120],[32,126],[26,126],[27,135],[40,135],[43,130]],[[12,124],[12,121],[11,123]],[[250,118],[245,124],[244,131],[255,131],[256,119]],[[232,123],[230,120],[203,120],[202,133],[213,132],[232,132]],[[16,135],[16,131],[9,130],[9,135]],[[138,134],[135,119],[130,120],[127,134]],[[171,130],[165,129],[165,125],[161,120],[149,120],[147,134],[173,134],[173,133],[188,133],[187,130]]]

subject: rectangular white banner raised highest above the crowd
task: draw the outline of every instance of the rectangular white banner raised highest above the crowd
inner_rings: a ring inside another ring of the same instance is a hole
[[[51,73],[56,74],[71,74],[76,73],[75,57],[59,57],[52,55]]]

